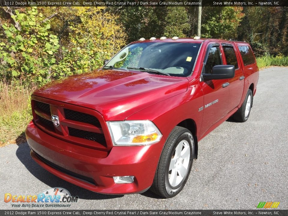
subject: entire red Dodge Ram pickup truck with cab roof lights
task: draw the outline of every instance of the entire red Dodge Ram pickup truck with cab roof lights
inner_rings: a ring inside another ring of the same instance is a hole
[[[32,94],[31,156],[98,193],[176,196],[198,141],[230,116],[248,119],[258,76],[245,42],[141,38]]]

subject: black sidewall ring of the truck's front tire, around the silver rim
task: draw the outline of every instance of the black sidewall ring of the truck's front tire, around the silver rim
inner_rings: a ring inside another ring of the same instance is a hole
[[[174,153],[174,150],[176,149],[176,146],[182,140],[186,140],[190,146],[190,160],[189,160],[189,164],[188,164],[188,172],[185,174],[182,182],[180,182],[179,185],[177,185],[176,187],[172,187],[170,185],[169,179],[168,179],[169,165],[170,165],[170,161],[172,159],[172,155]],[[166,188],[166,192],[167,192],[168,196],[170,196],[170,197],[176,196],[183,189],[184,185],[186,184],[188,176],[189,176],[190,171],[191,171],[193,159],[194,159],[194,151],[195,151],[195,145],[194,145],[193,135],[191,133],[184,132],[175,140],[174,146],[169,153],[169,157],[168,157],[166,168],[165,168],[165,188]]]

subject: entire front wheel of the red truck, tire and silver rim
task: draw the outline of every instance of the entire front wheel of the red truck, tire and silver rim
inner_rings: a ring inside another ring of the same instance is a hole
[[[194,152],[192,133],[176,126],[164,145],[150,190],[164,198],[176,196],[187,182]]]

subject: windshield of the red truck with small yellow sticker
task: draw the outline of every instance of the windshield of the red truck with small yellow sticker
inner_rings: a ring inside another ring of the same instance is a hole
[[[126,46],[105,65],[127,69],[149,68],[170,76],[189,76],[200,43],[149,42]]]

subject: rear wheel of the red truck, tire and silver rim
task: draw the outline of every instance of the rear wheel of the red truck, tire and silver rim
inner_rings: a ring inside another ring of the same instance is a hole
[[[238,122],[246,122],[249,118],[253,102],[253,95],[251,89],[248,89],[246,98],[242,106],[234,113],[233,118]]]

